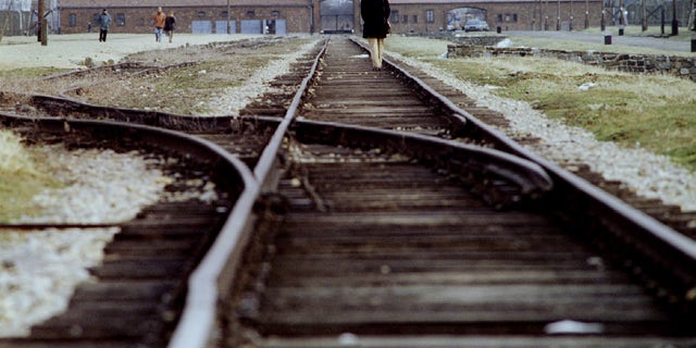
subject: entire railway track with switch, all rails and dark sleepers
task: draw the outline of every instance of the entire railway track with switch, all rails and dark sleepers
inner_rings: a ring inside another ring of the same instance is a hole
[[[33,107],[62,120],[4,115],[202,161],[225,194],[121,226],[67,312],[0,347],[696,347],[687,215],[530,153],[411,67],[371,71],[348,38],[312,54],[237,117],[50,96]],[[120,123],[77,120],[96,116]]]

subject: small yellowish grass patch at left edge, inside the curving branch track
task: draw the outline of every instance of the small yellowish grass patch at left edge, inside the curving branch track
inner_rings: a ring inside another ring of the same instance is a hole
[[[0,222],[37,213],[32,197],[60,185],[39,163],[20,137],[0,130]]]

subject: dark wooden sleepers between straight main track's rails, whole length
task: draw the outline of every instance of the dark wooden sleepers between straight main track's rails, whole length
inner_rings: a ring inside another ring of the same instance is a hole
[[[488,129],[472,127],[465,111],[458,114],[451,101],[428,94],[428,86],[390,78],[411,73],[370,72],[363,54],[350,42],[330,46],[299,120],[407,130],[525,154]],[[424,162],[438,162],[437,154],[405,154],[366,136],[349,146],[349,132],[295,126],[297,144],[287,149],[294,161],[278,188],[289,198],[287,211],[265,231],[270,247],[253,258],[257,277],[250,276],[231,304],[229,332],[240,341],[260,347],[694,344],[693,318],[680,314],[692,304],[662,307],[675,297],[639,285],[659,281],[648,279],[652,275],[645,266],[634,268],[642,261],[630,256],[633,251],[619,251],[627,240],[618,240],[626,238],[625,232],[616,235],[610,221],[618,217],[600,217],[606,212],[595,211],[597,201],[586,206],[570,194],[582,185],[561,184],[566,174],[551,174],[556,185],[569,185],[549,194],[559,196],[518,206],[513,202],[523,195],[511,198],[500,195],[506,189],[490,194],[490,187],[449,182],[447,164],[424,170]],[[517,208],[495,209],[510,203]],[[245,340],[248,330],[263,338]],[[413,336],[433,340],[417,344]]]

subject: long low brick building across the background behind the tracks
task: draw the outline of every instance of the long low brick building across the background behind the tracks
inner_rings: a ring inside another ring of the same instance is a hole
[[[492,28],[570,29],[598,26],[601,0],[390,0],[394,33],[456,28],[467,17]],[[360,32],[360,0],[59,0],[59,32],[85,33],[102,8],[112,33],[150,33],[157,7],[174,11],[179,33],[290,34]],[[539,21],[539,18],[542,18]]]

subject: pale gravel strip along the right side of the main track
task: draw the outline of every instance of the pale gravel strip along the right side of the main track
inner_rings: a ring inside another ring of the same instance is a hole
[[[499,129],[510,137],[527,134],[542,139],[529,150],[558,163],[585,163],[607,179],[627,185],[636,195],[661,199],[682,211],[696,211],[696,174],[679,166],[668,157],[642,148],[623,148],[599,141],[592,133],[547,119],[527,102],[500,98],[489,92],[493,87],[476,86],[460,80],[431,64],[400,55],[388,54],[421,69],[443,83],[476,100],[478,107],[500,112],[510,128]]]

